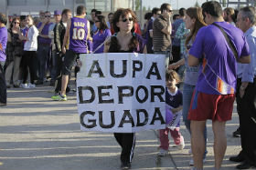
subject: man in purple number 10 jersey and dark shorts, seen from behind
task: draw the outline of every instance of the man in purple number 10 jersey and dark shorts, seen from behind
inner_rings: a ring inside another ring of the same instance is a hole
[[[80,54],[87,54],[87,40],[90,36],[90,22],[85,19],[86,8],[83,5],[77,7],[77,15],[69,19],[62,45],[62,53],[66,54],[62,67],[61,92],[59,95],[52,96],[53,100],[66,101],[66,88],[69,82],[69,74],[72,66],[79,58]],[[66,45],[69,38],[69,50],[66,53]]]

